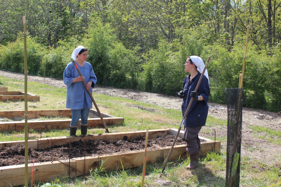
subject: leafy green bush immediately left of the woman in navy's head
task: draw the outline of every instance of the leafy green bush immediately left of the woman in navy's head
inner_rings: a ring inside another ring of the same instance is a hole
[[[148,62],[143,65],[143,77],[146,91],[175,95],[182,90],[182,82],[187,75],[184,62],[179,53],[172,52],[172,45],[165,41],[158,44],[157,50],[150,50],[146,57]]]

